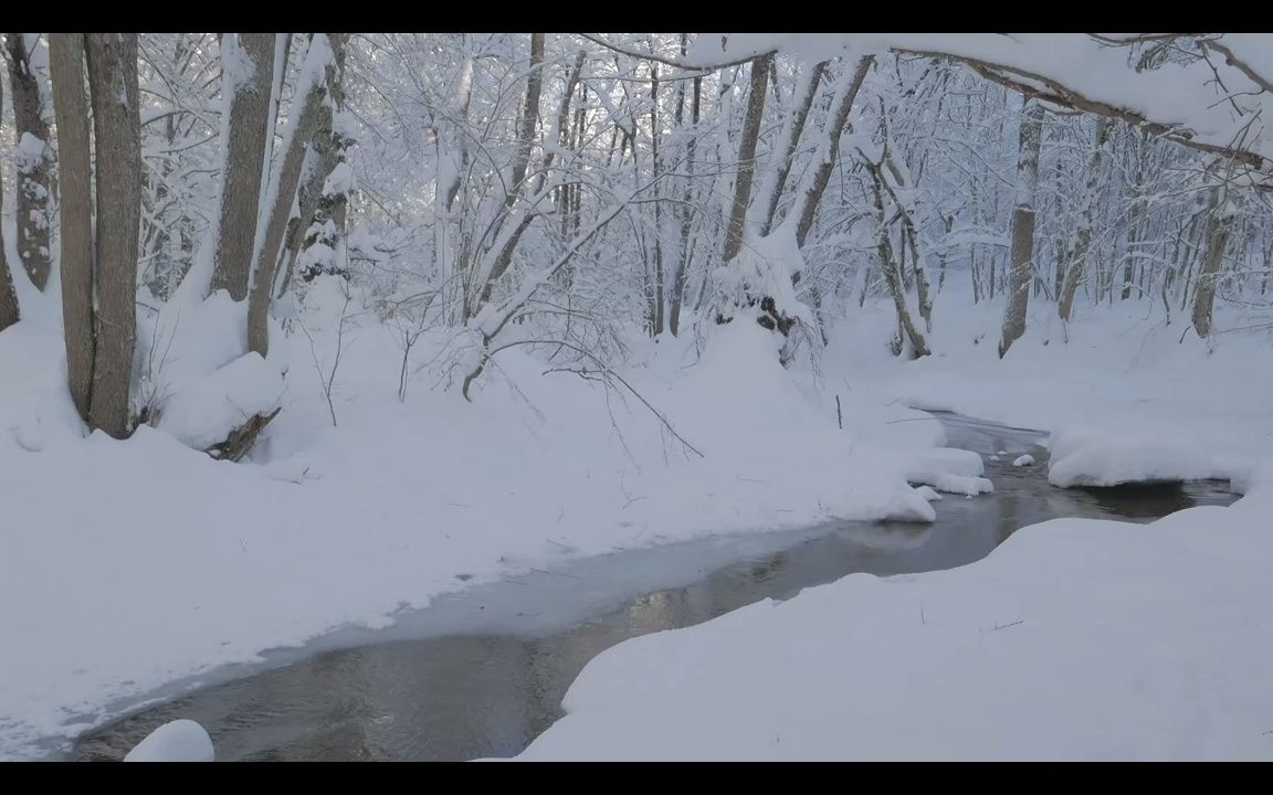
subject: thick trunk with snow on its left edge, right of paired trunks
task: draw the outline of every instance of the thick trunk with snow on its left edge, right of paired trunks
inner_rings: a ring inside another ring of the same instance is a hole
[[[216,233],[211,290],[247,298],[256,242],[261,164],[272,136],[270,89],[274,78],[274,33],[230,33],[222,38],[222,93],[229,121],[225,125],[222,165],[220,225]]]

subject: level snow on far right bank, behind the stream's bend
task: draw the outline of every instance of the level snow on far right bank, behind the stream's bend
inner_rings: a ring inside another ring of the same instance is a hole
[[[1051,305],[999,360],[998,301],[938,301],[934,355],[886,350],[891,309],[867,305],[836,329],[827,380],[927,410],[1049,431],[1057,486],[1236,478],[1273,452],[1273,351],[1267,327],[1199,341],[1161,305],[1076,310],[1064,341]],[[1184,340],[1181,340],[1184,337]]]

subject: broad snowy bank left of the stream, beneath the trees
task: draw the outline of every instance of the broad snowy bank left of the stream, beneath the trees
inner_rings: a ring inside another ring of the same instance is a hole
[[[843,394],[839,430],[834,394],[782,370],[769,335],[742,323],[693,366],[693,340],[636,341],[625,371],[704,458],[631,394],[545,374],[524,349],[499,355],[472,404],[432,389],[428,368],[400,403],[400,350],[365,315],[346,323],[332,427],[313,361],[334,359],[342,300],[322,291],[335,281],[306,314],[316,352],[303,333],[271,350],[290,363],[284,411],[246,464],[181,441],[206,441],[201,422],[224,426],[279,387],[269,363],[199,349],[228,336],[204,333],[233,319],[215,296],[173,324],[190,343],[141,323],[172,413],[123,443],[81,438],[56,304],[0,335],[0,757],[38,754],[39,738],[74,736],[117,700],[386,626],[509,572],[831,516],[931,520],[931,492],[908,478],[984,491],[980,459],[936,452],[943,432],[925,415]]]

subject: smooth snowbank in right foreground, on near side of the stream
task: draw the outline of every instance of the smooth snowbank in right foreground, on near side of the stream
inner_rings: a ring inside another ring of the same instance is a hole
[[[1058,519],[602,653],[549,759],[1273,759],[1267,497]]]

